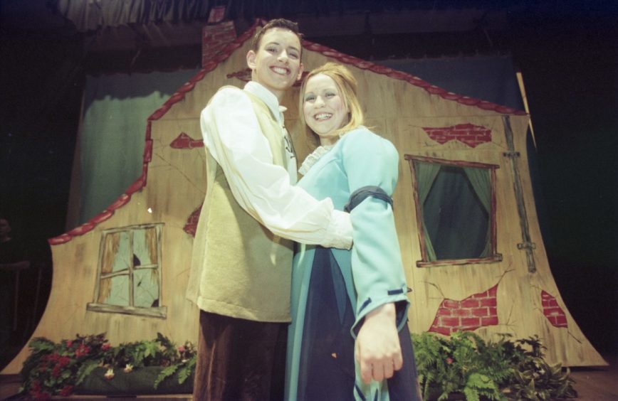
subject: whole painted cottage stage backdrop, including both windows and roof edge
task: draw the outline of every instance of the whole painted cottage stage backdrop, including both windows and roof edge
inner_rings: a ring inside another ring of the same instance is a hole
[[[219,87],[249,79],[245,56],[255,29],[206,54],[199,73],[148,118],[140,178],[102,213],[49,241],[53,283],[33,337],[105,332],[118,344],[161,332],[177,343],[197,339],[197,309],[184,294],[206,191],[199,113]],[[216,31],[206,34],[217,40]],[[528,170],[528,115],[303,46],[306,70],[327,61],[350,67],[367,125],[399,150],[394,213],[413,289],[411,331],[538,335],[551,362],[606,365],[548,266]],[[298,86],[283,104],[303,160]],[[17,373],[27,355],[26,347],[2,373]]]

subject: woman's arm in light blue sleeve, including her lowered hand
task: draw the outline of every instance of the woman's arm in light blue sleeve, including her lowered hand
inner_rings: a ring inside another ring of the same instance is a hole
[[[387,140],[362,129],[343,138],[342,153],[350,193],[378,186],[392,196],[399,155]],[[406,322],[407,284],[392,207],[378,197],[365,198],[351,212],[355,245],[352,275],[357,292],[355,355],[362,379],[392,377],[402,367],[398,328]]]

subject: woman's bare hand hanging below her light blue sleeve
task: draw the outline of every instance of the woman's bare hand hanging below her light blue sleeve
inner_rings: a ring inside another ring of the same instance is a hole
[[[379,306],[365,316],[356,338],[355,357],[365,383],[392,378],[394,371],[402,368],[394,304]]]

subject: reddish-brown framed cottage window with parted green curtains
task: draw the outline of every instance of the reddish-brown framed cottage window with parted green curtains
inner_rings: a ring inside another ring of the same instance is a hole
[[[493,164],[406,155],[422,259],[417,266],[496,262]]]

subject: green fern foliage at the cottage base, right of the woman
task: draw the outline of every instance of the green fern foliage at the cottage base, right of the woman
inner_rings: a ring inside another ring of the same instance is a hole
[[[569,370],[545,362],[538,337],[509,337],[487,342],[471,331],[458,331],[450,338],[412,334],[424,399],[446,400],[453,393],[468,401],[577,397]]]

